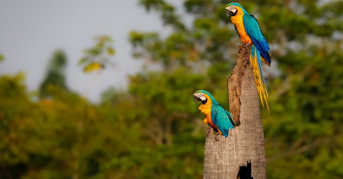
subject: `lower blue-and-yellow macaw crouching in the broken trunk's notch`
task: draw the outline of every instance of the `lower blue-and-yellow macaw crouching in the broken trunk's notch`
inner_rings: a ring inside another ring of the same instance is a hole
[[[205,114],[204,123],[211,126],[214,131],[227,137],[229,129],[235,128],[234,123],[236,122],[232,118],[233,115],[218,104],[209,92],[204,90],[196,91],[193,100],[195,103],[201,101],[199,110]]]

